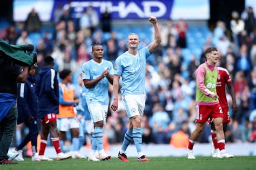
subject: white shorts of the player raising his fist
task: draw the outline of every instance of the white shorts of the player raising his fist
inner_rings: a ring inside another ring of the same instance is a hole
[[[129,118],[134,117],[134,115],[140,115],[143,117],[146,94],[122,96],[122,101]]]

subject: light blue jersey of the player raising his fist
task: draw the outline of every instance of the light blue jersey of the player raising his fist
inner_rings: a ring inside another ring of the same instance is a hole
[[[126,51],[116,59],[114,74],[122,77],[122,95],[145,93],[146,58],[150,55],[149,46],[146,46],[136,56]]]

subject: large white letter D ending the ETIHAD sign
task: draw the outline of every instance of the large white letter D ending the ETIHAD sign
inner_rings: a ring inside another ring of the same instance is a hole
[[[166,6],[162,2],[158,2],[158,1],[142,2],[142,5],[144,7],[145,17],[150,17],[150,16],[161,17],[166,12]],[[154,12],[151,11],[151,8],[153,6],[157,7],[158,11],[154,11]]]

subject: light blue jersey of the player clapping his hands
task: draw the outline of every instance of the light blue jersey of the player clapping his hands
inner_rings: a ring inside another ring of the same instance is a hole
[[[82,79],[94,80],[102,75],[106,67],[109,68],[109,74],[113,75],[113,64],[107,60],[97,63],[91,59],[82,66]],[[101,79],[95,86],[88,89],[86,93],[87,103],[100,103],[109,105],[109,81],[106,77]]]

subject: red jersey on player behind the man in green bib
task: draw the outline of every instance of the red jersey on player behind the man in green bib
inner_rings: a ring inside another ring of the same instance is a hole
[[[228,107],[225,85],[230,83],[232,83],[230,73],[227,71],[227,69],[224,69],[223,67],[218,67],[216,90],[219,96],[219,103],[221,107]]]

